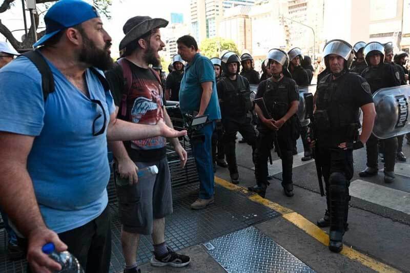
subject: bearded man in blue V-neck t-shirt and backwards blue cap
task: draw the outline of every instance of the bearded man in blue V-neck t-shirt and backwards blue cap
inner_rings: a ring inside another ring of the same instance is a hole
[[[27,238],[34,272],[60,270],[42,252],[49,242],[57,251],[68,248],[86,272],[108,272],[107,139],[186,132],[162,120],[142,125],[116,119],[101,76],[112,65],[111,37],[94,7],[61,0],[45,23],[46,34],[34,46],[42,46],[37,52],[53,74],[54,92],[43,97],[42,76],[26,57],[0,70],[0,205]]]

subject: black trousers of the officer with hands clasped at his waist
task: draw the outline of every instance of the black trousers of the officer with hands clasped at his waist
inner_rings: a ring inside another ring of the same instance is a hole
[[[258,127],[259,137],[256,142],[255,160],[258,165],[256,173],[256,179],[258,185],[268,185],[268,158],[273,148],[275,133],[272,130],[259,125]],[[282,128],[277,131],[278,147],[277,151],[280,151],[280,159],[282,161],[282,186],[286,184],[292,184],[292,166],[293,166],[293,143],[291,138],[290,124],[283,124]],[[279,153],[278,153],[279,154]]]

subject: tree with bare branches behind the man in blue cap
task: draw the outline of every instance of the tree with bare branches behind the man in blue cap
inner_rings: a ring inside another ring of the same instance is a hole
[[[14,5],[14,2],[16,1],[17,0],[4,0],[3,4],[0,5],[0,14],[12,8]],[[36,0],[36,4],[43,4],[43,7],[46,10],[51,6],[50,4],[52,2],[56,2],[56,0]],[[89,0],[88,2],[91,2],[91,0]],[[111,6],[111,0],[92,0],[92,5],[94,5],[94,7],[98,10],[100,14],[103,14],[107,18],[110,18],[110,12],[108,8]],[[37,29],[38,23],[39,23],[39,15],[37,13],[34,14],[34,21],[35,21],[35,27]],[[28,13],[27,13],[27,23],[28,23],[27,37],[23,41],[19,41],[18,39],[14,37],[13,33],[9,30],[9,28],[7,28],[7,26],[3,24],[2,20],[0,19],[0,33],[3,34],[7,38],[11,46],[14,47],[16,50],[29,49],[29,48],[32,48],[32,45],[34,44],[34,33],[33,33],[33,28],[29,26],[30,16]],[[37,38],[39,39],[40,37],[42,37],[44,33],[45,33],[45,30],[37,32]]]

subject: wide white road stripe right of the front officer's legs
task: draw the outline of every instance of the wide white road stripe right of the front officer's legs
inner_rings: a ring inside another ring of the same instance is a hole
[[[356,198],[410,215],[410,193],[360,179],[350,184],[349,192]]]

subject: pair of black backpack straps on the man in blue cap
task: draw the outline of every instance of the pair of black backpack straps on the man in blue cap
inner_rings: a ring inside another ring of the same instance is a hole
[[[54,92],[54,76],[51,72],[50,66],[47,64],[46,59],[37,50],[26,52],[20,56],[25,56],[29,60],[31,60],[35,67],[38,69],[38,72],[40,72],[40,74],[42,75],[43,98],[44,101],[46,101],[48,95]],[[110,86],[108,85],[106,78],[101,75],[95,68],[90,67],[90,70],[97,76],[97,78],[101,82],[101,85],[103,85],[104,90],[110,90]]]

